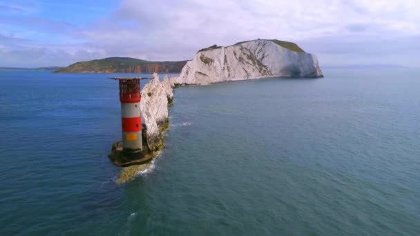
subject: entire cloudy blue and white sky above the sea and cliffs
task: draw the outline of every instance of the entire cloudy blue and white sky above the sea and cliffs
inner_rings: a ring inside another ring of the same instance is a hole
[[[419,67],[420,1],[0,0],[0,66],[180,61],[258,38],[298,43],[321,67]]]

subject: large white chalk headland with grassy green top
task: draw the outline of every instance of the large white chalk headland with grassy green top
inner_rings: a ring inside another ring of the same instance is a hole
[[[323,74],[316,56],[296,44],[258,39],[198,51],[171,83],[209,84],[265,77],[316,78]]]

